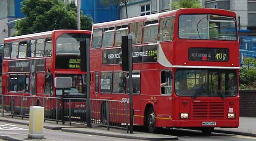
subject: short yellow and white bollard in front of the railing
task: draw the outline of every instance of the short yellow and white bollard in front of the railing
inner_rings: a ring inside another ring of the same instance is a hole
[[[44,128],[44,107],[31,106],[28,138],[43,139],[44,138],[43,128]]]

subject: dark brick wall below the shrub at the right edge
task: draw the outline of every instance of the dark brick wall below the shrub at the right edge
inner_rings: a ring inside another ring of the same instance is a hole
[[[240,90],[240,116],[256,117],[256,90]]]

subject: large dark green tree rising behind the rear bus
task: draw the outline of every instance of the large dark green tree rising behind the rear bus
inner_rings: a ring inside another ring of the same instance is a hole
[[[77,29],[77,10],[74,3],[59,0],[23,0],[21,12],[25,18],[16,22],[15,36],[51,30]],[[81,12],[81,29],[91,30],[92,18]]]

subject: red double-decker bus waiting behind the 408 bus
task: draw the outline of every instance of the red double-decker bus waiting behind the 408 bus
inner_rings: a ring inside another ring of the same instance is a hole
[[[54,30],[5,38],[2,94],[61,97],[62,90],[54,87],[54,78],[71,77],[72,87],[65,90],[65,98],[85,98],[85,72],[80,70],[79,48],[80,40],[90,35],[91,31],[84,30]],[[29,110],[30,105],[48,103],[47,111],[56,108],[53,98],[45,100],[44,103],[43,98],[37,98],[30,103],[24,97],[22,106]],[[14,105],[14,111],[20,111],[21,100],[17,98],[14,102],[11,103],[11,97],[5,97],[5,110],[11,110]],[[72,104],[72,108],[85,108],[85,103],[76,104],[79,106]]]

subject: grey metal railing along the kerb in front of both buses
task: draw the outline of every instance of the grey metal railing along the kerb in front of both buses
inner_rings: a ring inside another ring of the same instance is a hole
[[[90,99],[90,123],[124,128],[128,132],[128,103],[118,100]],[[31,106],[44,107],[44,121],[86,123],[86,98],[0,95],[0,115],[29,118]]]

